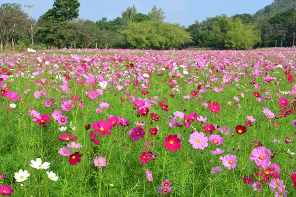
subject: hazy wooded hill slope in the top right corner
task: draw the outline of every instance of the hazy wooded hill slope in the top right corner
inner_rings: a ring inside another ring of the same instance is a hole
[[[296,0],[274,0],[270,5],[257,11],[256,18],[271,18],[276,14],[296,9]]]

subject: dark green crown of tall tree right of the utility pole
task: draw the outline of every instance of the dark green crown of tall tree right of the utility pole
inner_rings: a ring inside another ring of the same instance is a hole
[[[53,8],[43,14],[44,21],[70,21],[78,17],[80,3],[78,0],[55,0]]]

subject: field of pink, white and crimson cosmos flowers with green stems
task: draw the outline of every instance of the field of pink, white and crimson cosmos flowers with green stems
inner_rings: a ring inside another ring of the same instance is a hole
[[[295,55],[0,54],[0,194],[295,197]]]

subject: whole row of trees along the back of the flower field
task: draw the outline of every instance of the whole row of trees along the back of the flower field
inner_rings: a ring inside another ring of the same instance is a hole
[[[271,17],[251,14],[220,15],[195,21],[187,28],[164,22],[165,13],[155,5],[148,14],[138,13],[135,5],[121,12],[114,20],[99,21],[78,18],[78,0],[55,0],[53,7],[30,20],[18,3],[0,7],[1,50],[15,43],[31,47],[33,39],[39,48],[132,48],[184,49],[251,49],[254,47],[292,46],[296,27],[293,8]]]

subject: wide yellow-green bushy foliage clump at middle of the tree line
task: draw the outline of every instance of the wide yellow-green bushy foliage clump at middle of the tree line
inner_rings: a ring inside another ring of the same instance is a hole
[[[178,24],[155,21],[129,23],[122,33],[129,48],[172,49],[192,41],[191,36]]]

